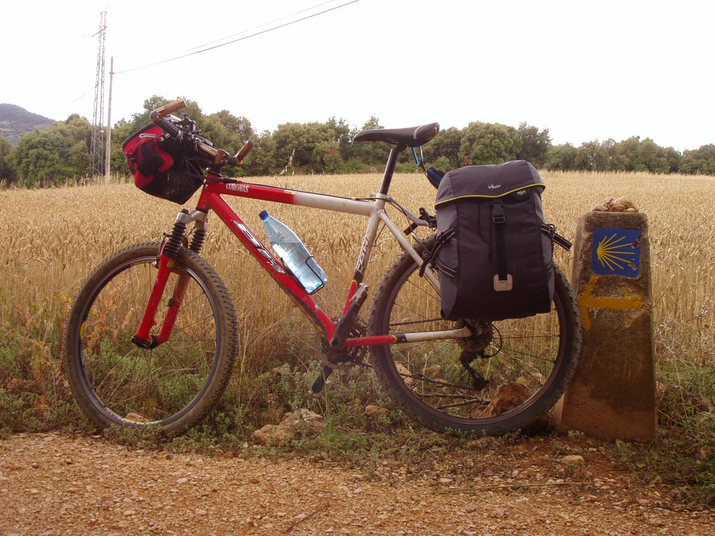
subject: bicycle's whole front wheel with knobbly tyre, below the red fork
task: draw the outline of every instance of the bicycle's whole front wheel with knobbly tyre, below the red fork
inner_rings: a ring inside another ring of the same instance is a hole
[[[170,339],[154,349],[132,342],[157,277],[158,243],[115,253],[84,282],[66,329],[65,364],[82,411],[95,425],[182,432],[220,399],[236,354],[236,315],[209,264],[180,248],[157,322],[179,276],[189,277]]]

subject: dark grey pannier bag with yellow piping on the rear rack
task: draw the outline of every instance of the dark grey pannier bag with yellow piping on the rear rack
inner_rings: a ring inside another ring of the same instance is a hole
[[[551,309],[552,240],[568,241],[546,224],[545,187],[524,160],[445,174],[435,201],[432,255],[443,317],[502,320]]]

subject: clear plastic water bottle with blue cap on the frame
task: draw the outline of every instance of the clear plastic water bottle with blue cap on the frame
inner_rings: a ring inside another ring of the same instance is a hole
[[[327,283],[327,276],[300,242],[300,238],[286,224],[269,216],[267,211],[261,211],[259,216],[266,229],[268,241],[285,267],[302,284],[305,292],[312,294],[322,289]]]

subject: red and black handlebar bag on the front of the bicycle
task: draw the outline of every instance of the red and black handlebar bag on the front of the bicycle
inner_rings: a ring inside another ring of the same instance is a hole
[[[156,197],[184,204],[203,184],[204,174],[197,160],[188,159],[173,140],[164,140],[164,131],[148,124],[122,144],[134,186]]]

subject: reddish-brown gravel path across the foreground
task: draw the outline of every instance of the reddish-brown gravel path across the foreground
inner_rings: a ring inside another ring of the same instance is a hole
[[[634,485],[596,448],[570,456],[524,442],[360,472],[320,457],[171,455],[21,434],[0,441],[0,535],[715,534],[713,510]]]

